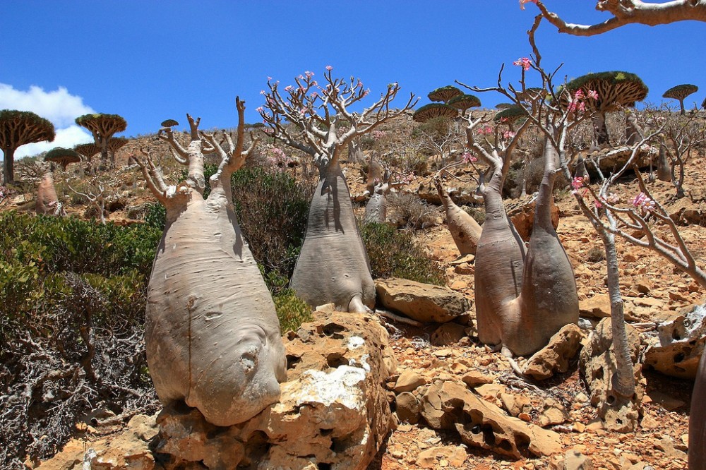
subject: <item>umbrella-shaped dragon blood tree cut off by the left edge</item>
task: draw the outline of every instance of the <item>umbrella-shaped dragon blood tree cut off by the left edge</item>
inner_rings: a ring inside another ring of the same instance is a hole
[[[0,110],[0,149],[2,149],[3,180],[15,181],[15,150],[20,145],[54,140],[54,124],[37,114],[16,109]]]

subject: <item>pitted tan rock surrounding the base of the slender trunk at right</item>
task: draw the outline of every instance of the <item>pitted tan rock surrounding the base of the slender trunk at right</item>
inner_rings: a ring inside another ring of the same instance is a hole
[[[616,373],[616,361],[613,349],[611,319],[604,318],[588,337],[587,344],[581,350],[580,367],[590,388],[591,404],[597,406],[598,416],[604,427],[617,432],[630,432],[638,426],[639,407],[644,394],[644,385],[640,381],[640,335],[635,328],[626,324],[628,347],[633,360],[635,375],[635,396],[630,401],[619,399],[614,393],[611,378]]]

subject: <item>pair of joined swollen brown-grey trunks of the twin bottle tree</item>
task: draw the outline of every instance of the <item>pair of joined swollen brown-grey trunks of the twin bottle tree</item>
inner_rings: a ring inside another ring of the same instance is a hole
[[[484,189],[486,219],[476,251],[478,337],[487,344],[503,344],[519,356],[544,347],[568,323],[578,323],[573,269],[551,223],[556,158],[547,142],[526,256],[505,214],[499,162]]]

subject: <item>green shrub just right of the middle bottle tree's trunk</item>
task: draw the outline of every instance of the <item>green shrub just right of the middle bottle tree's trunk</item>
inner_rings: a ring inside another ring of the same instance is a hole
[[[412,234],[388,224],[369,223],[361,226],[361,236],[373,278],[402,277],[438,286],[446,284],[448,279],[441,265],[424,256]]]

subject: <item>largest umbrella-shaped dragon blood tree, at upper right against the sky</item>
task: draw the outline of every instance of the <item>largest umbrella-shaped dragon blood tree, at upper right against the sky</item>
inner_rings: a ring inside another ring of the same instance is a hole
[[[567,97],[574,97],[578,92],[582,106],[593,112],[593,128],[597,144],[610,145],[610,136],[606,126],[606,114],[624,107],[633,107],[635,102],[645,100],[647,86],[634,73],[611,71],[589,73],[575,78],[566,84],[568,94],[561,93],[561,104],[568,106]],[[588,92],[593,91],[592,96]]]

